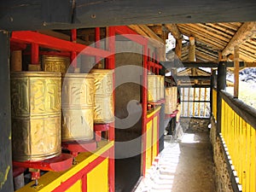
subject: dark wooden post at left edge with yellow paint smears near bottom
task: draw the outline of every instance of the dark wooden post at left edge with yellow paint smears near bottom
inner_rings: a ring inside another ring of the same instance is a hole
[[[9,83],[9,34],[0,32],[0,192],[14,191],[11,147],[11,102]]]

